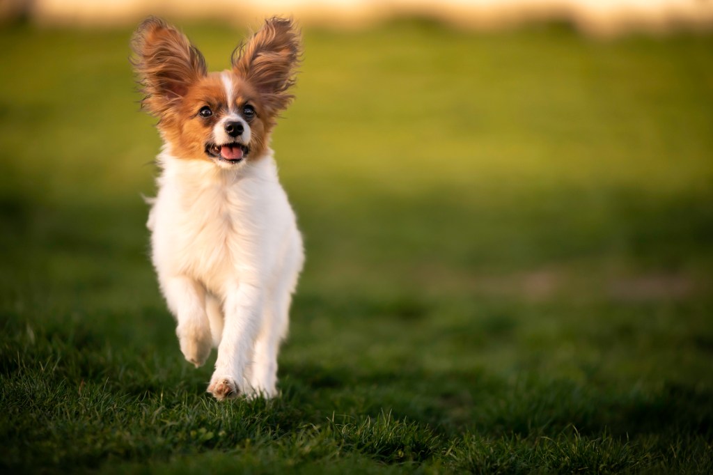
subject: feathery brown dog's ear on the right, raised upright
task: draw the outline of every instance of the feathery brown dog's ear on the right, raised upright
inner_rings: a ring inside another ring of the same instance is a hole
[[[237,75],[250,81],[273,113],[287,107],[301,54],[299,31],[292,20],[273,17],[232,53]]]

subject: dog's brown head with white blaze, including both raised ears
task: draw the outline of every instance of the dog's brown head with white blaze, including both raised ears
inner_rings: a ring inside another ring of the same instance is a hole
[[[133,65],[159,118],[170,153],[235,168],[265,153],[277,115],[292,100],[299,61],[292,21],[269,19],[232,55],[232,69],[207,73],[200,51],[160,19],[143,22],[133,37]]]

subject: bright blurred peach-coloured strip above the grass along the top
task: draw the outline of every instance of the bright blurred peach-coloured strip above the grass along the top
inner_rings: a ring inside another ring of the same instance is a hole
[[[219,19],[241,26],[276,12],[307,24],[364,26],[394,16],[427,16],[448,24],[501,29],[531,21],[562,19],[593,34],[672,26],[707,27],[710,0],[5,0],[0,14],[31,16],[44,24],[119,25],[163,12],[192,19]]]

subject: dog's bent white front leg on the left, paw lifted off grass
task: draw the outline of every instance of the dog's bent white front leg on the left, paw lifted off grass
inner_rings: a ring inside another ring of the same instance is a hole
[[[185,276],[161,276],[161,287],[178,321],[176,335],[185,359],[201,366],[210,354],[210,325],[205,314],[205,289]]]

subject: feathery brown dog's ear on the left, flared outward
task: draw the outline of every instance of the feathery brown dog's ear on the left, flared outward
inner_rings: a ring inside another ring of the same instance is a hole
[[[205,76],[205,59],[188,38],[162,19],[150,16],[136,29],[130,59],[138,75],[141,101],[154,116],[164,116],[191,84]]]

